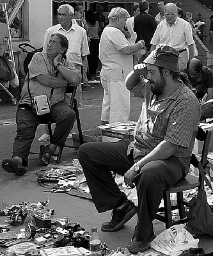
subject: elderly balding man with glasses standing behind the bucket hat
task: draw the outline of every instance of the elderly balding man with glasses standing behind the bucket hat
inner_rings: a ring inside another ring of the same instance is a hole
[[[193,32],[189,22],[177,17],[177,6],[173,3],[165,5],[164,13],[166,19],[163,20],[155,30],[150,44],[153,51],[158,44],[167,44],[179,52],[180,71],[184,70],[188,60],[194,56]],[[189,48],[189,54],[187,52]]]

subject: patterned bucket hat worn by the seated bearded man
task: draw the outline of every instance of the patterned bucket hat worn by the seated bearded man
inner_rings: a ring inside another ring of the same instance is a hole
[[[143,61],[147,64],[168,68],[173,72],[180,72],[178,65],[179,52],[166,44],[158,44],[156,49]]]

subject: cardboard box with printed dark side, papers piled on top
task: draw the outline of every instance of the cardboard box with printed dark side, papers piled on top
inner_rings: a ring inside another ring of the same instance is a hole
[[[134,140],[134,128],[136,122],[127,121],[123,123],[111,123],[98,126],[101,130],[103,142],[116,142],[118,140]]]

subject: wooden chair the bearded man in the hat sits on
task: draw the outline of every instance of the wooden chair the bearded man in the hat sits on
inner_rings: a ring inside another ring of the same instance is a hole
[[[201,154],[201,159],[198,161],[196,156],[191,157],[191,164],[199,170],[199,177],[195,179],[193,175],[187,175],[185,179],[179,180],[172,188],[166,189],[164,191],[163,200],[164,207],[159,207],[157,214],[155,214],[155,219],[165,223],[166,228],[170,228],[173,225],[180,223],[186,223],[187,218],[185,214],[185,205],[188,206],[188,202],[184,200],[183,191],[200,188],[201,183],[204,182],[201,172],[205,169],[209,163],[207,160],[207,155],[209,152],[209,144],[212,136],[212,131],[203,131],[199,127],[198,135],[196,136],[197,140],[203,141],[203,149]],[[177,204],[172,205],[170,200],[171,193],[177,194]],[[174,221],[171,218],[171,211],[178,209],[180,220]]]

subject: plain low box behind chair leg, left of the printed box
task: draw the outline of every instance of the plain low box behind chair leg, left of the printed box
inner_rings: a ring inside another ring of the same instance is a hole
[[[79,133],[78,132],[72,133],[72,140],[73,140],[74,147],[81,146],[80,141],[79,141]],[[93,141],[101,141],[100,129],[95,128],[95,129],[83,131],[83,141],[84,141],[84,143],[93,142]]]

